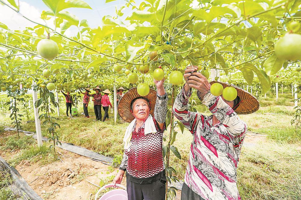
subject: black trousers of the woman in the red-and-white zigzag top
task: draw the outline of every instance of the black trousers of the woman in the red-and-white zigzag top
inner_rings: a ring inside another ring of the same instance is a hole
[[[126,180],[126,191],[129,200],[164,200],[165,181],[158,180],[150,184],[138,184]]]

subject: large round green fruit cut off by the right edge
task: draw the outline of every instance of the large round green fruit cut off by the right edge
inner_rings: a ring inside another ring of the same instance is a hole
[[[285,34],[275,42],[275,54],[283,60],[301,59],[301,35]]]

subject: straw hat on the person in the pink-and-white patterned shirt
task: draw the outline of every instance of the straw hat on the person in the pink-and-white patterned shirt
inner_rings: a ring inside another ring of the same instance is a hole
[[[237,108],[235,109],[235,112],[240,115],[246,115],[246,114],[251,114],[253,112],[256,112],[259,107],[259,101],[249,92],[245,91],[244,89],[236,86],[236,85],[231,85],[228,83],[224,82],[216,82],[216,81],[211,81],[210,84],[212,85],[213,83],[220,83],[224,88],[228,86],[232,86],[233,88],[236,89],[237,91],[237,96],[240,98],[240,103],[238,104]]]

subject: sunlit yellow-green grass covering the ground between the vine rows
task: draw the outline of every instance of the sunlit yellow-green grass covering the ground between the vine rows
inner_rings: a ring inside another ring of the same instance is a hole
[[[260,97],[259,101],[261,107],[256,113],[240,115],[248,124],[249,131],[266,135],[266,139],[262,139],[258,145],[242,148],[237,172],[241,197],[247,200],[301,199],[301,130],[295,130],[290,125],[294,113],[290,88],[284,90],[283,95],[280,93],[277,101],[270,94],[267,94],[267,98]],[[203,105],[196,107],[198,112],[210,114]],[[79,107],[79,114],[81,112],[82,108]],[[116,162],[120,161],[123,154],[122,139],[128,124],[118,122],[114,125],[112,119],[95,121],[92,104],[89,105],[91,117],[88,119],[82,115],[67,118],[64,113],[65,107],[61,104],[58,121],[61,129],[57,130],[61,141],[113,156]],[[30,120],[33,120],[32,114]],[[0,116],[0,127],[9,124],[7,115]],[[35,131],[34,122],[23,121],[23,129]],[[42,127],[42,134],[47,136],[45,127]],[[165,135],[168,135],[167,131]],[[174,143],[182,160],[172,155],[171,166],[176,169],[180,179],[185,174],[191,140],[191,134],[185,130],[183,135],[177,135]]]

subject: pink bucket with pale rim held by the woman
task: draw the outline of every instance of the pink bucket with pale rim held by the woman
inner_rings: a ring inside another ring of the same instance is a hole
[[[104,190],[109,187],[113,187],[114,184],[107,184],[101,189],[98,190],[98,192],[95,195],[95,200],[97,200],[97,196],[100,193],[101,190]],[[107,193],[105,193],[99,200],[128,200],[128,194],[126,193],[126,187],[120,184],[116,184],[117,187],[121,187],[123,189],[116,189],[116,190],[111,190]]]

